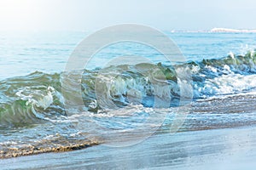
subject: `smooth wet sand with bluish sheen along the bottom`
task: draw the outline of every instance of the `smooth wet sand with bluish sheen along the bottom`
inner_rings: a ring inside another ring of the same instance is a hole
[[[154,134],[129,147],[84,150],[0,160],[1,169],[254,169],[256,127]]]

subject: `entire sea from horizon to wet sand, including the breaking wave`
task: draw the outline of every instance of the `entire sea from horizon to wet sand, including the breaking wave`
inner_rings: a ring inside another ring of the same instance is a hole
[[[88,145],[93,141],[115,143],[119,142],[117,134],[134,128],[139,131],[132,135],[125,133],[124,137],[133,141],[154,132],[172,132],[173,120],[183,119],[175,117],[178,111],[183,111],[183,105],[180,105],[182,89],[174,67],[191,72],[189,85],[193,88],[189,115],[178,132],[256,123],[256,34],[166,32],[187,59],[184,63],[170,63],[152,48],[137,43],[124,42],[103,48],[83,71],[83,109],[67,108],[61,89],[70,98],[73,89],[63,85],[62,78],[69,74],[63,71],[74,48],[88,34],[0,32],[1,157],[48,152],[76,144],[84,148],[84,141],[89,141]],[[110,66],[99,80],[101,67],[109,59],[129,53],[145,56],[153,64]],[[76,76],[75,71],[70,74]],[[108,83],[110,80],[113,83]],[[101,88],[96,94],[99,84]],[[160,92],[162,87],[169,90],[170,103],[167,107],[154,107],[157,99],[166,97]],[[101,98],[107,94],[108,98]],[[183,97],[186,95],[190,94],[185,93]],[[111,102],[103,108],[99,99]],[[67,111],[72,114],[68,115]],[[147,122],[148,117],[151,119]],[[81,122],[83,126],[77,126]],[[148,132],[148,127],[152,132]]]

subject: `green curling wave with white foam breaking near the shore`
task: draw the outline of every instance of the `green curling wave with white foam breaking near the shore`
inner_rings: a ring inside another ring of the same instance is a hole
[[[179,74],[191,72],[194,99],[215,95],[239,94],[256,88],[256,54],[229,54],[222,59],[203,59],[182,65],[138,64],[110,66],[108,73],[84,70],[81,89],[86,111],[102,111],[97,103],[96,83],[100,83],[100,95],[108,95],[115,105],[152,107],[154,95],[165,98],[166,86],[170,92],[170,106],[180,97]],[[117,72],[119,74],[117,74]],[[22,126],[40,123],[66,116],[65,101],[61,94],[61,77],[64,74],[33,72],[24,77],[12,77],[0,82],[0,126]],[[149,76],[148,76],[149,75]],[[165,83],[161,83],[163,80]],[[100,81],[97,81],[100,80]],[[153,83],[153,81],[155,81]],[[159,87],[155,87],[159,86]],[[68,90],[68,89],[66,89]],[[72,95],[72,94],[70,94]],[[189,94],[188,94],[189,95]]]

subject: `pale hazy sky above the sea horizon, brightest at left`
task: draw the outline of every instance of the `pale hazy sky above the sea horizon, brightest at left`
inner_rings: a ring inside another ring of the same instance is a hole
[[[255,17],[255,0],[0,0],[0,30],[91,31],[120,23],[256,29]]]

